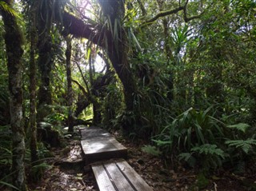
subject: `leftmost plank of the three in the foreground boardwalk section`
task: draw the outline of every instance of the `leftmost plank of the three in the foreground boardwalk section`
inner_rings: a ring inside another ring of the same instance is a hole
[[[106,173],[103,165],[94,165],[92,166],[94,176],[98,183],[98,189],[104,191],[117,191],[110,180],[110,177]]]

